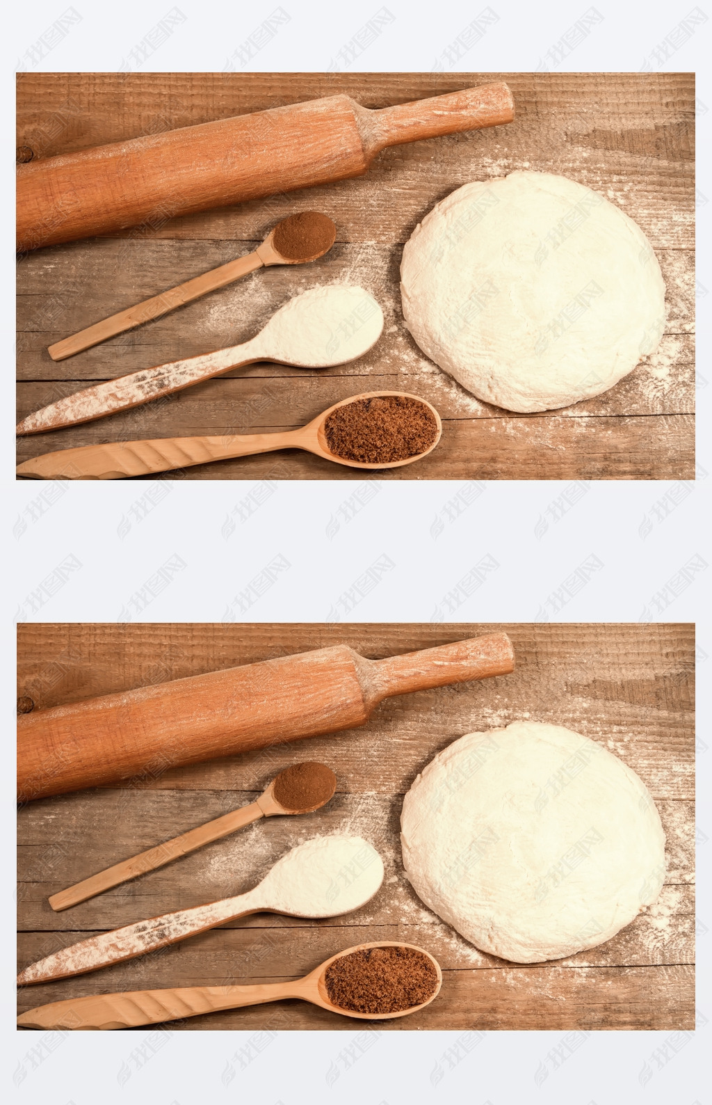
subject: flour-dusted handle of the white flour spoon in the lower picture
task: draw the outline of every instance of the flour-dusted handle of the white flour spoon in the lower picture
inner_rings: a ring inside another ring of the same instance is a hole
[[[169,944],[177,944],[188,936],[204,933],[209,928],[224,925],[236,917],[256,913],[262,908],[254,891],[237,897],[225,898],[223,902],[212,902],[210,905],[193,906],[192,909],[179,909],[177,913],[164,913],[149,920],[138,920],[124,928],[115,928],[110,933],[91,936],[67,948],[62,948],[44,959],[30,964],[18,975],[20,986],[31,986],[34,982],[49,982],[55,978],[68,978],[71,975],[83,975],[85,971],[97,970],[108,964],[121,962],[124,959],[135,959],[156,951]]]

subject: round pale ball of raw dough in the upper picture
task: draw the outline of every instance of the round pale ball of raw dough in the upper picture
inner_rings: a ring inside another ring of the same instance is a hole
[[[665,284],[638,225],[566,177],[458,188],[403,251],[405,323],[487,402],[543,411],[601,394],[652,352]]]

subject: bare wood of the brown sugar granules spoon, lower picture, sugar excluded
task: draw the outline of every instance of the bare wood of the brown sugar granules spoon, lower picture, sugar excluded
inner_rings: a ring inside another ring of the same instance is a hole
[[[358,1013],[352,1009],[341,1009],[329,998],[325,976],[337,959],[366,948],[412,948],[427,956],[437,972],[434,992],[419,1006],[401,1009],[395,1013]],[[269,982],[257,986],[190,986],[176,990],[134,990],[128,993],[97,993],[87,998],[70,998],[53,1001],[47,1006],[29,1009],[18,1017],[18,1027],[25,1029],[129,1029],[141,1024],[161,1024],[163,1021],[182,1020],[184,1017],[200,1017],[221,1009],[242,1009],[245,1006],[264,1006],[268,1001],[299,998],[312,1006],[328,1009],[331,1013],[353,1017],[365,1021],[385,1021],[394,1017],[410,1017],[425,1009],[437,998],[443,985],[440,965],[429,951],[415,944],[396,940],[379,940],[375,944],[357,944],[353,948],[339,951],[304,978],[290,982]]]

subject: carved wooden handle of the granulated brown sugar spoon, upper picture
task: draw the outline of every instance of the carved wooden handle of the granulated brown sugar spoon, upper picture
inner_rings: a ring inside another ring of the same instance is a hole
[[[35,480],[121,480],[151,472],[171,472],[210,461],[227,461],[255,453],[274,453],[301,444],[299,430],[248,433],[225,438],[157,438],[153,441],[117,441],[79,445],[43,453],[18,465],[19,476]]]

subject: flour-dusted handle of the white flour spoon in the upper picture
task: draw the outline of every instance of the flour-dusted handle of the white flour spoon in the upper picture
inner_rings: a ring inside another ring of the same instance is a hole
[[[252,365],[259,359],[259,347],[253,338],[241,346],[170,361],[157,368],[144,368],[140,372],[84,388],[83,391],[43,407],[20,422],[15,427],[15,433],[46,433],[47,430],[59,430],[65,425],[93,422],[94,419],[139,407],[152,399],[160,399],[161,396],[170,396],[173,391],[200,383],[201,380],[210,380],[221,372],[229,372],[231,368]]]

